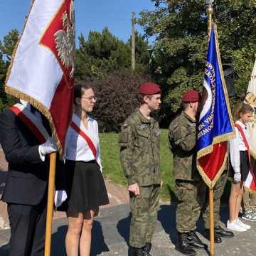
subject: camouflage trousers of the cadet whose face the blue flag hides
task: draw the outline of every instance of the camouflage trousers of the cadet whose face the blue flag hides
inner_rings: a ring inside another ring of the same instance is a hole
[[[176,228],[178,233],[196,230],[196,222],[201,213],[199,189],[201,181],[176,180]]]

